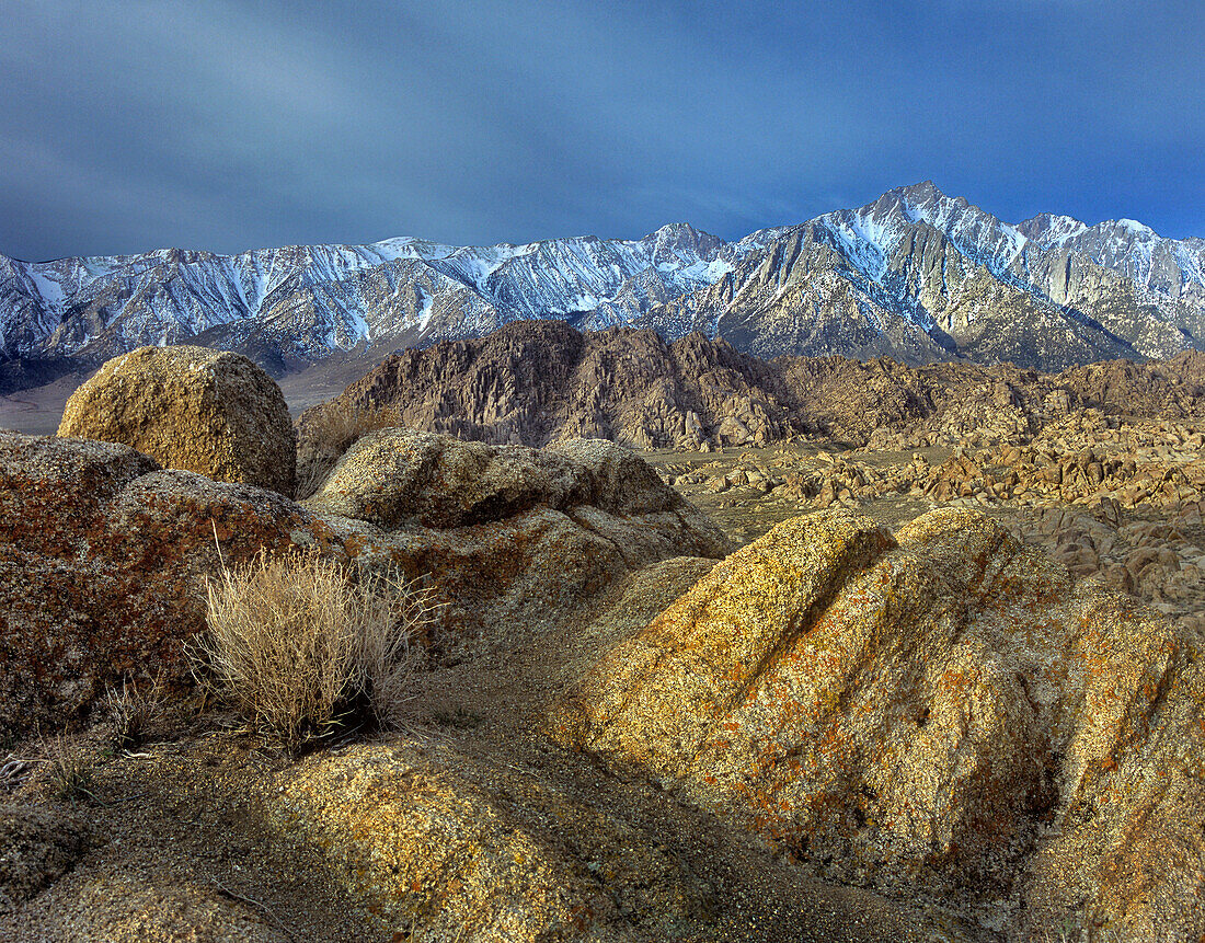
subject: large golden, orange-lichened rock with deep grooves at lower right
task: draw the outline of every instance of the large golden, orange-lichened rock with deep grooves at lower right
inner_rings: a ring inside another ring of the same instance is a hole
[[[1200,654],[975,512],[894,537],[818,514],[717,565],[551,727],[830,877],[1195,938]]]

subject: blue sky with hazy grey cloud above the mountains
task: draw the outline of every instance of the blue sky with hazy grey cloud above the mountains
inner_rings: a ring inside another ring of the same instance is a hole
[[[0,0],[0,253],[725,238],[931,178],[1205,236],[1205,4]]]

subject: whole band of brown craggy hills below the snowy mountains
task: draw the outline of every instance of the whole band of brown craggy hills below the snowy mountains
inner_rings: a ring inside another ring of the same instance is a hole
[[[576,436],[687,449],[803,435],[851,444],[903,432],[957,441],[972,426],[1034,431],[1081,407],[1205,415],[1205,354],[1045,375],[1011,365],[910,367],[886,358],[766,361],[698,334],[668,342],[651,330],[582,334],[521,322],[481,340],[390,356],[336,400],[306,411],[302,440],[312,440],[329,413],[386,407],[413,429],[531,446]]]

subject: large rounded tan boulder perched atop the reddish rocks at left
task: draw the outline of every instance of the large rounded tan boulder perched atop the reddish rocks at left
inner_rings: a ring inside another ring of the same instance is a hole
[[[119,442],[166,468],[293,495],[284,396],[240,354],[142,347],[114,358],[67,400],[59,436]]]

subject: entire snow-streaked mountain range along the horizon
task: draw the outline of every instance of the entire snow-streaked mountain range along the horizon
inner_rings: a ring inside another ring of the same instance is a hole
[[[239,255],[0,255],[0,358],[99,361],[143,344],[241,350],[282,372],[512,320],[692,330],[763,356],[964,356],[1054,369],[1205,341],[1205,240],[1133,220],[1011,225],[931,183],[724,242],[686,224],[453,247],[417,238]]]

